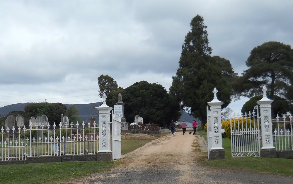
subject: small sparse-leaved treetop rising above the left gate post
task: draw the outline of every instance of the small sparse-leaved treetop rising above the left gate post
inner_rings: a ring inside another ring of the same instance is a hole
[[[98,85],[100,89],[100,98],[103,97],[103,93],[106,93],[106,95],[108,95],[109,93],[114,92],[118,89],[117,82],[114,81],[114,79],[109,75],[100,75],[100,77],[98,77]]]

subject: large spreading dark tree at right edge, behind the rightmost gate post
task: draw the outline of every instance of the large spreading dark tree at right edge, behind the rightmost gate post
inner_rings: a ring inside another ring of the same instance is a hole
[[[277,100],[277,103],[272,103],[273,116],[284,111],[292,112],[293,50],[291,46],[275,41],[266,42],[253,48],[246,65],[249,68],[235,83],[235,90],[246,97],[261,96],[263,93],[261,89],[266,86],[268,97]],[[287,105],[281,107],[278,105],[280,103]]]

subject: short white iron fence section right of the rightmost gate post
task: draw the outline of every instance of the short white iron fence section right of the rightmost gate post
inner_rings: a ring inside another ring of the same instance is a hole
[[[273,125],[273,140],[276,150],[293,150],[293,135],[292,135],[292,115],[283,114],[283,121],[277,115],[276,119],[272,119]]]

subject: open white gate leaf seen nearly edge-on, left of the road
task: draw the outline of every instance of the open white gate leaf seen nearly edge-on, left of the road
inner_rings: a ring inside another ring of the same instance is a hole
[[[121,158],[121,117],[112,110],[112,159]]]

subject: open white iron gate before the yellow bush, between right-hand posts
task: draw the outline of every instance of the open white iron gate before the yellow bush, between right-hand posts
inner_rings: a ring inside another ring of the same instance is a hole
[[[258,106],[254,109],[259,112]],[[257,112],[249,111],[244,117],[230,119],[232,157],[260,156],[260,117]]]

